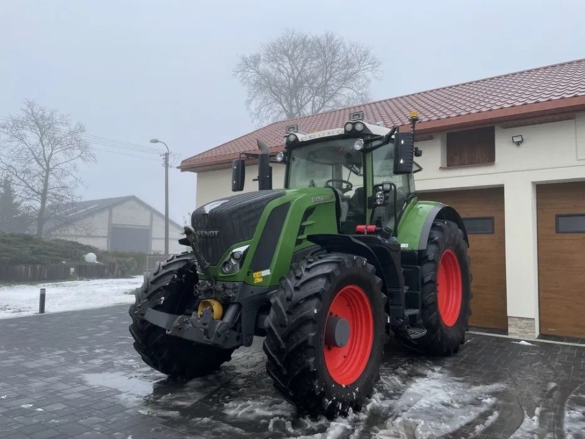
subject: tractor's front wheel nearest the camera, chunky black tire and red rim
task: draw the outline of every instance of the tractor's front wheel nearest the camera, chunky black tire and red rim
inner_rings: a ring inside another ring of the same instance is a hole
[[[364,258],[333,253],[293,264],[271,294],[266,371],[301,411],[333,418],[360,409],[371,396],[385,341],[381,284]],[[326,346],[330,315],[348,322],[341,347]]]

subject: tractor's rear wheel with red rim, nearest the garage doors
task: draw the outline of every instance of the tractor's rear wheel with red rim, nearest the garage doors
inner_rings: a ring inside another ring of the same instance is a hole
[[[457,353],[469,330],[472,294],[468,245],[456,223],[433,221],[420,272],[427,332],[415,339],[416,348],[430,355]]]

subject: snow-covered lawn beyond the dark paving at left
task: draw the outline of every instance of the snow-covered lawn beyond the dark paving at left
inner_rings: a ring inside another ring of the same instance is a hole
[[[45,284],[0,285],[0,319],[38,313],[38,295],[47,289],[45,313],[101,308],[134,302],[142,275],[128,279],[72,280]]]

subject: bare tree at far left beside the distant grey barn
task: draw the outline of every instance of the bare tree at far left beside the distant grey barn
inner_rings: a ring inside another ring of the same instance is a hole
[[[42,236],[47,221],[56,219],[59,206],[78,201],[78,164],[95,161],[84,132],[79,122],[30,100],[20,115],[0,124],[0,170],[36,220],[36,236]]]

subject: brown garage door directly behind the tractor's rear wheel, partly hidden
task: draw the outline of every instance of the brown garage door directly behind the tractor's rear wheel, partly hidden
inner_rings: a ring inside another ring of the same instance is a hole
[[[470,325],[507,330],[503,188],[423,192],[457,210],[469,236],[473,276]]]

